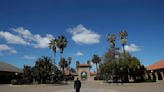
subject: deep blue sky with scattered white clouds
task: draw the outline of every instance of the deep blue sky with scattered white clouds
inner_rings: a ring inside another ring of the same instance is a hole
[[[127,30],[126,51],[145,66],[164,59],[163,0],[0,0],[0,61],[23,68],[50,56],[49,39],[65,35],[65,58],[103,57],[107,34]],[[116,47],[121,48],[119,37]],[[57,53],[57,63],[59,52]],[[92,69],[93,71],[95,68]]]

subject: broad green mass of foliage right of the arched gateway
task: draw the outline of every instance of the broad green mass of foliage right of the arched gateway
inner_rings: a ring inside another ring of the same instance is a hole
[[[128,59],[125,59],[123,54],[120,53],[118,60],[115,60],[108,56],[109,53],[107,52],[104,55],[104,60],[108,61],[100,64],[100,73],[104,79],[114,81],[120,79],[126,82],[126,75],[129,75],[135,82],[144,80],[145,68],[136,57],[127,54]]]

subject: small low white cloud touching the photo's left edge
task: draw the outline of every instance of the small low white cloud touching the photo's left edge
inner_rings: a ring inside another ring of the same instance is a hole
[[[15,49],[9,47],[6,44],[0,44],[0,56],[2,56],[4,54],[2,52],[10,53],[10,54],[16,54],[17,53],[17,51]]]

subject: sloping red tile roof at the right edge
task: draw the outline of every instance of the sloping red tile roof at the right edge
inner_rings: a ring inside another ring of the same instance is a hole
[[[163,69],[164,68],[164,60],[160,60],[150,66],[147,66],[147,70],[157,70],[157,69]]]

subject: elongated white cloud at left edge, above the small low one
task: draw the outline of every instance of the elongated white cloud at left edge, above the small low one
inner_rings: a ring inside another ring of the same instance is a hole
[[[10,43],[10,44],[22,44],[22,45],[28,44],[21,37],[14,35],[14,34],[11,34],[9,32],[0,31],[0,38],[4,38],[7,41],[7,43]]]

